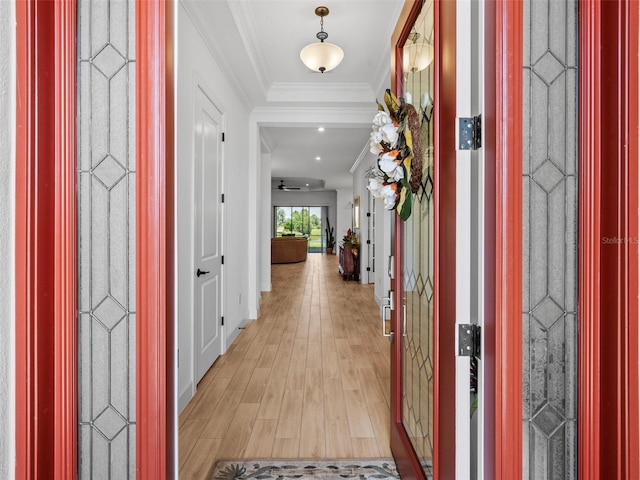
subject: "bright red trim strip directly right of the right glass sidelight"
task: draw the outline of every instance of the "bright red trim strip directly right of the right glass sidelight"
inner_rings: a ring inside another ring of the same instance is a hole
[[[593,3],[593,2],[592,2]],[[600,476],[600,8],[583,3],[579,15],[579,331],[578,337],[578,472],[580,479]]]

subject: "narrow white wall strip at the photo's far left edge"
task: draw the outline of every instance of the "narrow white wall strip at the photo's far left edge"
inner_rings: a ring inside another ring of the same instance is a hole
[[[0,478],[15,468],[15,4],[0,2]]]

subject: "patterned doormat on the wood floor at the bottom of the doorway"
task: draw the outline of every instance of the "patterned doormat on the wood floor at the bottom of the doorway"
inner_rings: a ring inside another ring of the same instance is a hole
[[[207,480],[398,479],[392,459],[376,460],[219,460]]]

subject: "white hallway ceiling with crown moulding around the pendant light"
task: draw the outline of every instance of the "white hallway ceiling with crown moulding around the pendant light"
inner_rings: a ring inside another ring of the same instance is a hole
[[[263,152],[271,155],[273,179],[315,178],[332,190],[351,187],[349,170],[368,152],[375,100],[389,86],[390,39],[403,3],[191,0],[183,5],[247,109],[263,120]],[[317,41],[320,17],[314,11],[320,5],[330,10],[324,19],[327,41],[344,50],[342,63],[324,74],[308,70],[299,57],[305,45]]]

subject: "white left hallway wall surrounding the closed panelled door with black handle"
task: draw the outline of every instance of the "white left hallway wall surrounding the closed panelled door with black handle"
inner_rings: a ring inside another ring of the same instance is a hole
[[[180,365],[178,408],[182,410],[195,393],[193,370],[193,116],[196,86],[201,85],[223,114],[225,194],[223,221],[223,352],[249,316],[249,209],[246,179],[249,172],[247,126],[249,113],[210,45],[198,31],[187,7],[178,8],[178,65],[176,106],[176,234],[177,234],[177,321]],[[255,278],[255,277],[254,277]]]

